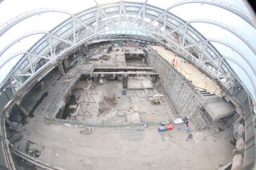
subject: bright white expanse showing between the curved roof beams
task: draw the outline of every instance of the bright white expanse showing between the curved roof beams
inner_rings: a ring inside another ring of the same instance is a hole
[[[96,1],[98,4],[115,2],[113,0],[96,0]],[[169,6],[172,6],[172,4],[175,4],[181,1],[183,0],[172,0],[172,1],[148,0],[147,4],[151,4],[159,8],[167,9]],[[134,2],[144,3],[145,1],[135,0]],[[242,0],[237,0],[237,1],[215,0],[214,2],[230,4],[231,6],[234,6],[235,8],[241,10],[243,13],[245,13],[250,17],[250,13],[247,10]],[[73,0],[72,4],[73,5],[71,5],[70,1],[61,1],[61,0],[2,1],[0,3],[0,18],[1,18],[0,25],[4,24],[11,18],[16,17],[17,15],[20,15],[26,11],[35,10],[38,8],[59,8],[59,9],[70,11],[71,13],[78,13],[79,11],[83,11],[83,10],[86,10],[87,8],[96,6],[96,3],[93,0],[89,0],[89,1]],[[218,22],[222,22],[223,24],[229,25],[230,27],[234,28],[236,31],[239,32],[239,34],[245,37],[245,39],[248,39],[248,41],[252,43],[253,46],[256,46],[256,38],[255,38],[256,30],[250,24],[245,22],[245,20],[238,17],[237,15],[234,15],[234,13],[231,13],[230,11],[223,10],[222,8],[218,8],[217,6],[213,6],[210,4],[200,4],[200,3],[183,4],[181,6],[176,6],[175,8],[172,8],[169,11],[171,13],[174,13],[174,15],[177,15],[178,17],[183,18],[183,20],[186,20],[186,21],[204,19],[204,20],[215,20]],[[153,12],[153,15],[156,13],[158,15],[158,12],[156,11],[152,11],[152,12]],[[28,18],[27,20],[24,20],[23,22],[20,22],[19,24],[15,25],[13,28],[11,28],[8,32],[6,32],[3,36],[0,37],[0,50],[2,50],[4,46],[6,46],[8,43],[13,41],[14,39],[19,38],[20,35],[26,34],[26,32],[50,31],[52,28],[56,27],[56,25],[58,25],[68,17],[70,16],[63,13],[42,13],[41,15],[36,15],[34,17]],[[150,22],[151,20],[146,18],[146,21]],[[126,25],[126,23],[124,25]],[[156,25],[156,23],[153,25]],[[248,59],[253,64],[256,63],[256,57],[255,57],[255,54],[252,52],[252,50],[250,50],[250,48],[248,48],[248,46],[246,46],[245,43],[241,41],[241,39],[237,38],[236,36],[234,36],[234,34],[230,33],[229,31],[226,31],[225,29],[222,29],[216,25],[211,25],[211,24],[193,23],[191,25],[195,27],[195,29],[197,29],[200,33],[202,33],[202,35],[204,35],[206,38],[220,39],[222,41],[230,43],[231,45],[239,49],[246,57],[248,57]],[[105,34],[110,34],[110,33],[124,34],[124,31],[126,32],[126,34],[144,35],[144,33],[142,33],[141,31],[126,30],[126,29],[123,29],[123,30],[119,29],[117,31],[108,31]],[[3,60],[6,59],[6,57],[10,56],[15,52],[18,52],[20,50],[27,50],[27,48],[32,46],[42,36],[43,34],[37,34],[18,42],[17,44],[12,46],[8,51],[6,51],[3,56],[1,56],[0,63],[3,62]],[[248,68],[248,64],[246,64],[245,60],[241,59],[241,57],[237,55],[237,53],[218,43],[213,43],[213,44],[223,55],[233,57],[234,59],[239,61],[239,63],[241,63],[244,67]],[[6,66],[4,66],[3,69],[1,69],[1,73],[3,73],[5,67],[7,68],[7,66],[9,66],[8,68],[10,68],[11,63],[15,64],[17,62],[17,59],[19,59],[19,57],[16,57],[15,59],[11,60],[8,64],[6,64]],[[241,80],[242,79],[244,80],[243,82],[246,84],[246,87],[248,87],[249,90],[250,89],[252,90],[252,85],[248,80],[245,80],[247,76],[244,75],[245,73],[241,71],[241,68],[239,68],[236,64],[232,62],[230,62],[230,66],[233,67],[233,69],[239,75]],[[253,80],[255,80],[255,83],[256,83],[256,78],[255,78],[255,75],[252,73],[252,70],[248,69],[248,72],[252,75]],[[2,81],[1,79],[3,79],[3,76],[1,76],[0,81]]]

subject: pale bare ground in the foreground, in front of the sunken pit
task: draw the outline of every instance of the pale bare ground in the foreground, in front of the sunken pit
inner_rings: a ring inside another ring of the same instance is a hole
[[[27,132],[26,139],[45,146],[40,160],[66,169],[218,169],[232,158],[230,129],[210,136],[218,127],[192,132],[186,141],[188,134],[178,127],[158,132],[158,125],[151,125],[144,128],[145,138],[127,140],[121,129],[137,127],[96,127],[88,135],[79,134],[76,125],[41,124],[42,131]]]

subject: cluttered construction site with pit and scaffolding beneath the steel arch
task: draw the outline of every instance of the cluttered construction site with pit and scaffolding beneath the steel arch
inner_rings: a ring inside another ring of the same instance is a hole
[[[239,104],[200,70],[195,73],[192,64],[163,46],[116,44],[109,53],[107,45],[90,49],[76,67],[56,67],[43,87],[24,97],[20,105],[28,117],[18,115],[19,108],[11,112],[11,120],[20,122],[20,135],[12,138],[23,136],[13,146],[15,155],[65,169],[107,164],[109,169],[123,164],[130,164],[128,169],[218,169],[232,160],[236,138],[230,123],[239,117]],[[173,59],[183,66],[172,65]],[[159,132],[163,122],[174,129]],[[175,159],[163,163],[174,153]],[[202,154],[211,164],[200,164]]]

